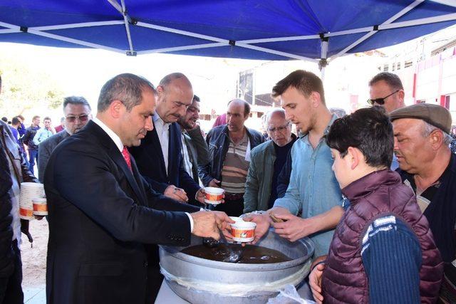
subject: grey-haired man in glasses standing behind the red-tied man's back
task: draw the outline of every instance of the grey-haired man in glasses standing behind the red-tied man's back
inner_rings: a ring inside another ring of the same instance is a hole
[[[44,170],[53,150],[60,142],[78,132],[87,124],[91,118],[90,110],[90,105],[86,98],[81,96],[70,96],[63,100],[65,129],[38,145],[38,179],[40,182],[43,182]]]

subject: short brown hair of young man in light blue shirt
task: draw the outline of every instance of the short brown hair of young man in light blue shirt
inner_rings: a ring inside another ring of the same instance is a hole
[[[314,73],[307,70],[295,70],[274,85],[271,95],[276,98],[290,87],[296,88],[306,97],[309,97],[312,92],[317,92],[320,94],[321,102],[326,104],[323,82]]]

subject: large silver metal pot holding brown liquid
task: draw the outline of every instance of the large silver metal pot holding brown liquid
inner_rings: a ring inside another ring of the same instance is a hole
[[[190,246],[202,239],[192,237]],[[272,229],[259,246],[285,253],[293,261],[269,264],[224,263],[181,253],[185,247],[160,246],[160,268],[170,288],[190,303],[266,303],[285,285],[299,285],[309,274],[314,243],[282,239]]]

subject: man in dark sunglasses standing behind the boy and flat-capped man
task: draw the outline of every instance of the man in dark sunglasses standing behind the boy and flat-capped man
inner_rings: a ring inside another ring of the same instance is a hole
[[[398,75],[388,72],[378,73],[369,81],[369,105],[380,105],[390,113],[404,108],[404,86]],[[399,163],[395,155],[391,162],[391,170],[398,169]]]

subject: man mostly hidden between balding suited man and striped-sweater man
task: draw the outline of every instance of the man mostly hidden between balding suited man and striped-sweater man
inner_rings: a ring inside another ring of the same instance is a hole
[[[199,118],[199,97],[193,97],[192,104],[187,108],[185,115],[177,121],[182,131],[182,158],[185,171],[199,183],[198,164],[209,162],[207,143],[202,137],[197,120]]]

